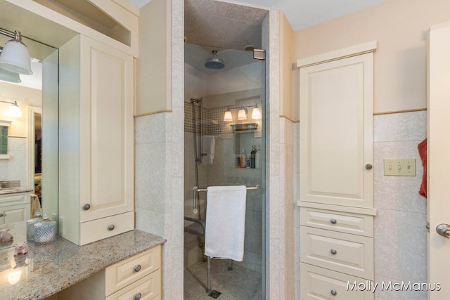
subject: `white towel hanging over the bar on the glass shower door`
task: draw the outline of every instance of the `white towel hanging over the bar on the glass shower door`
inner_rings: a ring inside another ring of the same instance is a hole
[[[245,185],[207,188],[206,256],[243,260],[246,196]]]

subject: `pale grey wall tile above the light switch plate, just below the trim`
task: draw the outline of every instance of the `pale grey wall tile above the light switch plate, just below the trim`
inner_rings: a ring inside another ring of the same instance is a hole
[[[427,112],[402,112],[373,117],[374,141],[422,141],[427,135]]]

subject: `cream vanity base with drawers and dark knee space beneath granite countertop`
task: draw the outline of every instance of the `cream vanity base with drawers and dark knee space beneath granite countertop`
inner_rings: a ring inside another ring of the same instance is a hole
[[[58,299],[162,299],[161,246],[115,263],[58,293]]]

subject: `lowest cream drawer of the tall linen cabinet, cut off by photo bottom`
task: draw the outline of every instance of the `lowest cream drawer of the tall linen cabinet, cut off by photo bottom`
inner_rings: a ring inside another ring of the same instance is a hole
[[[353,288],[354,283],[370,285],[368,280],[354,276],[326,270],[307,263],[301,263],[301,287],[302,300],[335,299],[335,300],[373,300],[373,289],[367,287],[364,290]],[[373,283],[373,282],[372,282]],[[347,290],[348,289],[348,290]],[[333,293],[333,294],[332,294]]]

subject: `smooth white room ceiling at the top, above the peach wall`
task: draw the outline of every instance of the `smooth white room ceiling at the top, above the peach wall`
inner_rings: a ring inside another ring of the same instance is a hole
[[[128,1],[141,8],[151,0]],[[297,31],[384,1],[386,0],[238,0],[233,3],[283,11],[290,26]]]

